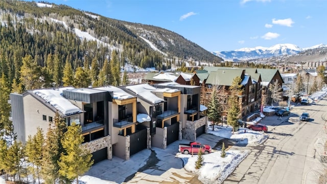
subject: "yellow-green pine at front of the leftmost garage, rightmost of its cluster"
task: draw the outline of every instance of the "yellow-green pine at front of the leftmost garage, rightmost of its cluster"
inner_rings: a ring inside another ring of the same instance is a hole
[[[92,155],[81,147],[83,141],[82,127],[74,122],[68,126],[63,139],[61,139],[61,144],[66,152],[60,155],[59,173],[71,181],[76,178],[77,183],[79,183],[78,176],[88,171],[93,164]]]

